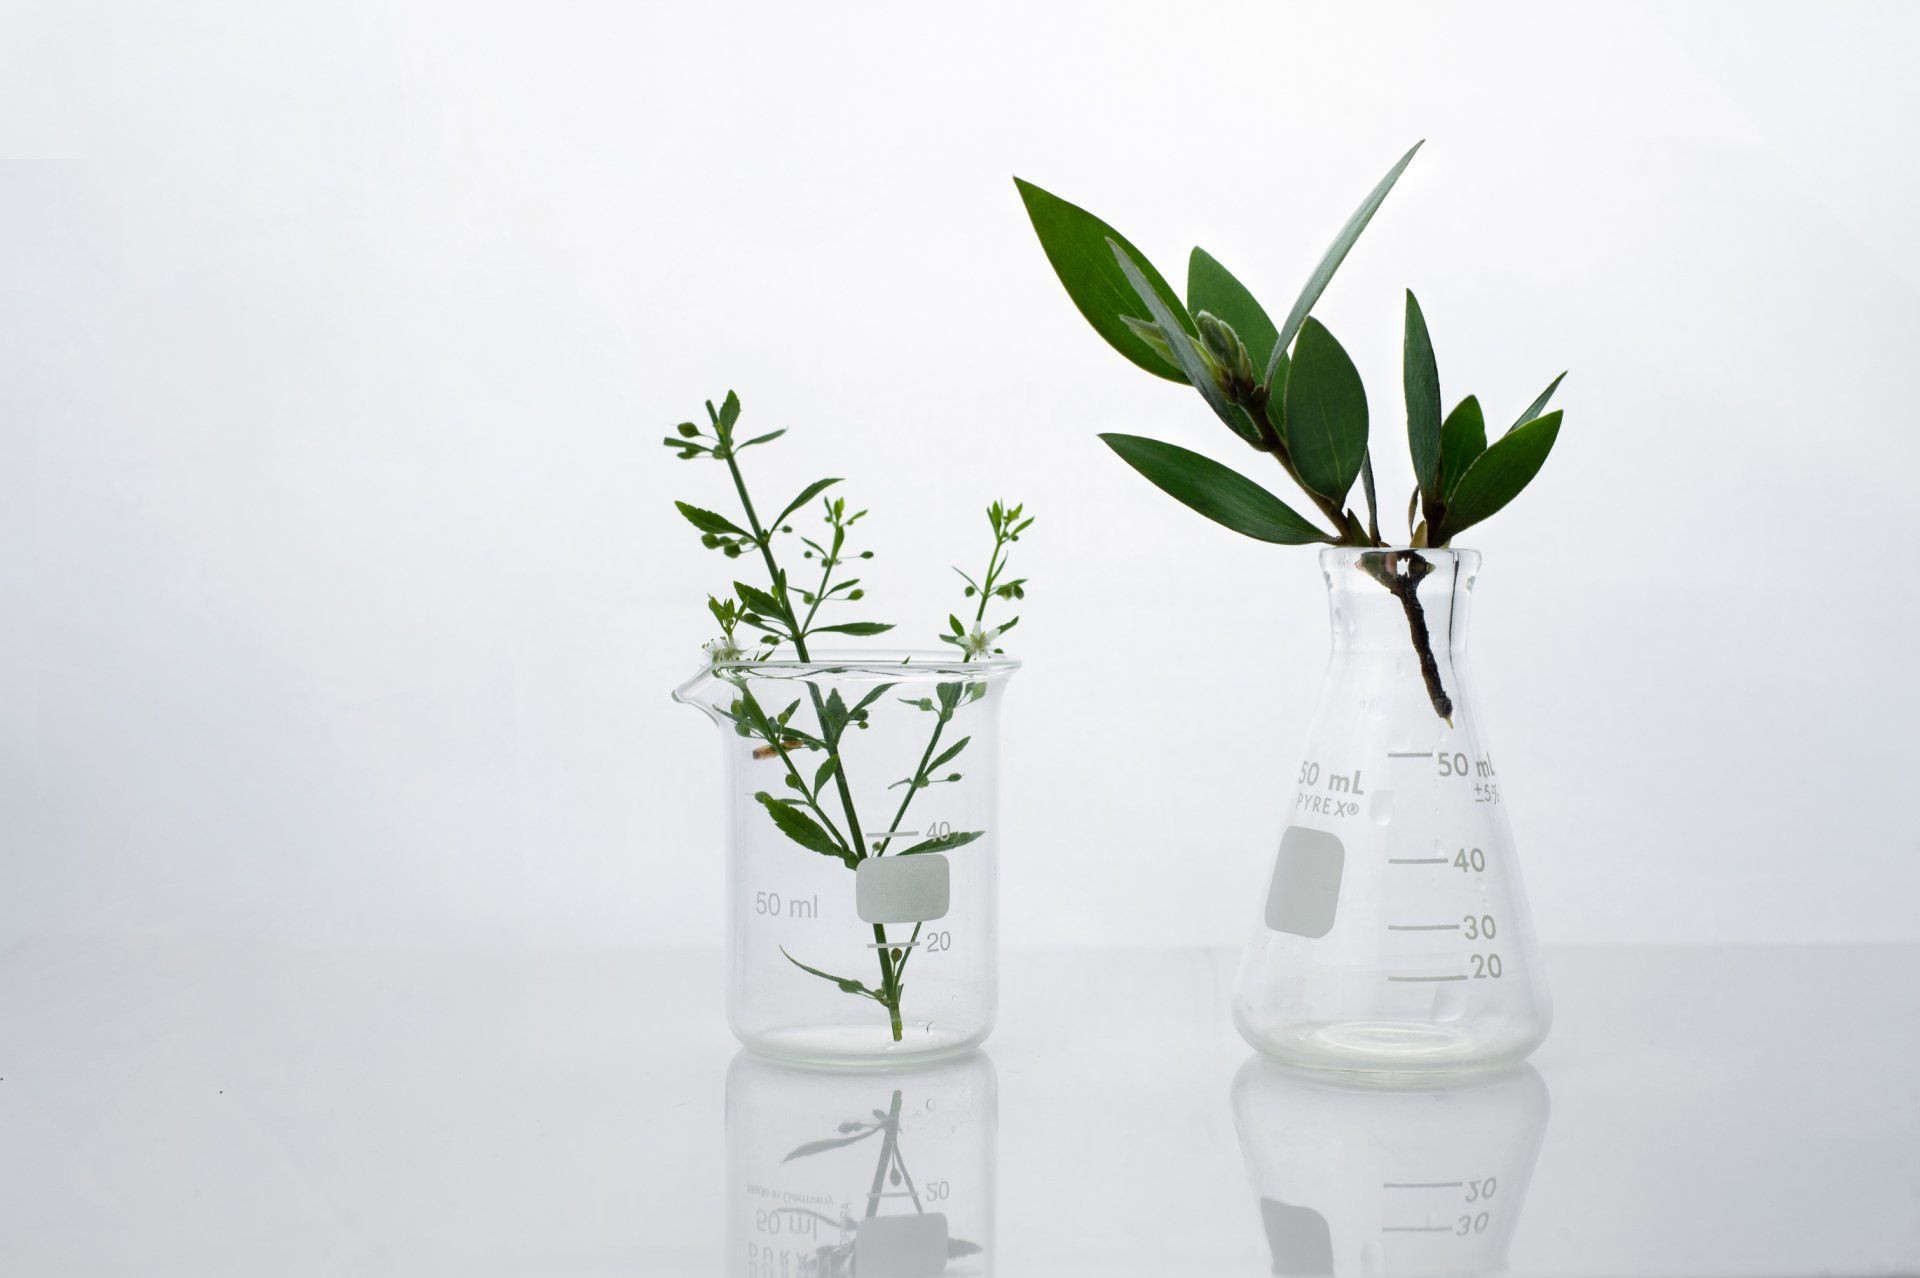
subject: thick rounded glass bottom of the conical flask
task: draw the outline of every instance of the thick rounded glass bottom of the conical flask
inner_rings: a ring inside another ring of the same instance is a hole
[[[1240,1036],[1288,1065],[1342,1073],[1467,1073],[1513,1065],[1546,1036],[1513,1025],[1475,1029],[1432,1021],[1319,1021],[1273,1030],[1248,1027]]]

